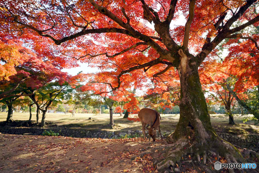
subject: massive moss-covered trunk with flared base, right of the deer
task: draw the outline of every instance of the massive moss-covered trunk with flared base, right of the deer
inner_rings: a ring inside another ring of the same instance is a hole
[[[180,62],[177,67],[180,84],[180,118],[175,131],[166,139],[173,142],[163,155],[166,161],[157,164],[157,169],[168,167],[169,161],[178,162],[186,153],[196,155],[196,158],[213,152],[224,156],[228,162],[243,162],[238,150],[230,143],[222,140],[211,126],[205,96],[198,74],[195,57],[187,57],[180,49]],[[172,149],[175,148],[175,149]],[[200,159],[200,158],[199,158]]]

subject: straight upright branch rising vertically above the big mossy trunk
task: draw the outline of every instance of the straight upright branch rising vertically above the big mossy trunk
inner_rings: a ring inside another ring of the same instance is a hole
[[[195,2],[196,2],[196,0],[190,0],[190,3],[189,3],[189,17],[188,17],[187,22],[185,23],[184,39],[183,39],[183,46],[184,46],[185,50],[188,49],[190,28],[191,28],[191,23],[192,23],[192,20],[194,17]]]

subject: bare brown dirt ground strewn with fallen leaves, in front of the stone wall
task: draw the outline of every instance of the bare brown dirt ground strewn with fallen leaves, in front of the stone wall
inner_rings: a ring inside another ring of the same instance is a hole
[[[91,139],[0,134],[0,172],[154,172],[142,138]]]

